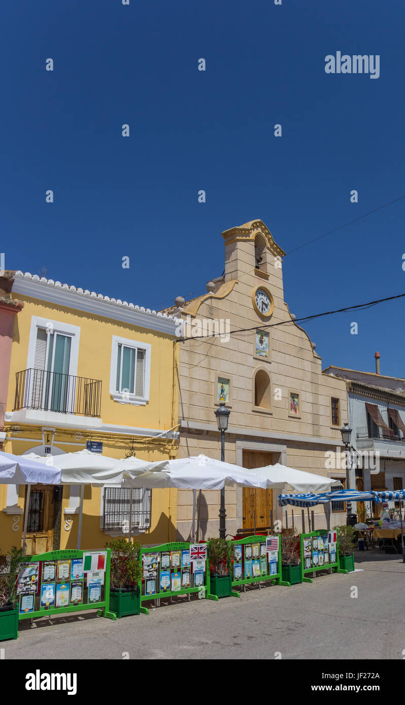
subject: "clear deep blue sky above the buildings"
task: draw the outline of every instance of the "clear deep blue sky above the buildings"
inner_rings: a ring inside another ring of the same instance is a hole
[[[19,0],[1,12],[8,269],[46,266],[158,309],[222,274],[226,228],[260,218],[290,252],[405,195],[400,0]],[[337,50],[379,54],[380,78],[328,75]],[[404,214],[402,200],[287,255],[296,317],[405,292]],[[305,327],[324,367],[373,372],[378,350],[382,372],[405,376],[403,319],[399,299]]]

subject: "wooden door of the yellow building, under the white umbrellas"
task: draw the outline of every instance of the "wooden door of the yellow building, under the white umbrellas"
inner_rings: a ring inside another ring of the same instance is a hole
[[[27,555],[52,551],[54,544],[54,485],[31,485],[27,524]],[[25,500],[27,489],[25,489]]]

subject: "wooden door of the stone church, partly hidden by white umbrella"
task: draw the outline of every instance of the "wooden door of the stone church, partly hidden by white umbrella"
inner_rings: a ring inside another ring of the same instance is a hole
[[[274,461],[275,462],[275,461]],[[273,465],[272,453],[261,450],[243,450],[243,467],[265,467]],[[243,487],[242,527],[250,529],[270,526],[270,511],[273,508],[272,489]]]

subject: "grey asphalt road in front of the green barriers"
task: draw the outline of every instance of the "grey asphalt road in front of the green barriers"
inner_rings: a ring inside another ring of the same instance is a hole
[[[181,597],[116,622],[86,612],[24,623],[16,641],[1,642],[2,657],[402,659],[405,564],[378,551],[355,559],[361,572],[253,587],[241,599]]]

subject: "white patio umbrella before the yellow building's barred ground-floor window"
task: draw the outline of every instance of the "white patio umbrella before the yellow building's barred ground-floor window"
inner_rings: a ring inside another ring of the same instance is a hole
[[[25,455],[25,458],[33,458],[34,454]],[[133,488],[135,477],[147,470],[163,470],[168,467],[168,461],[148,462],[139,458],[109,458],[107,455],[92,453],[91,450],[83,449],[75,453],[64,453],[64,455],[52,455],[47,459],[52,465],[57,465],[61,470],[61,484],[80,485],[80,507],[78,522],[77,548],[80,548],[80,539],[83,524],[83,497],[85,484],[95,486],[121,486]],[[132,529],[132,499],[130,494],[129,503],[129,538],[131,540]]]

